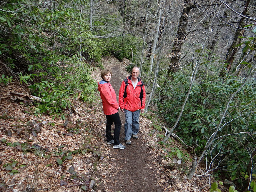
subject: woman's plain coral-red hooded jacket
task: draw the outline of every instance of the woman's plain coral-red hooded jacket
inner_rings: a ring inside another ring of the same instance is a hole
[[[105,81],[100,81],[98,83],[98,90],[100,92],[100,98],[102,99],[103,112],[106,115],[117,113],[119,105],[117,103],[115,90],[111,84]]]

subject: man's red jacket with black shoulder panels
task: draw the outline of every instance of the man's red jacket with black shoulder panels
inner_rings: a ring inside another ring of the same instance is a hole
[[[122,82],[119,90],[119,106],[121,109],[137,111],[145,108],[146,92],[142,80],[138,77],[138,84],[133,88],[131,75]]]

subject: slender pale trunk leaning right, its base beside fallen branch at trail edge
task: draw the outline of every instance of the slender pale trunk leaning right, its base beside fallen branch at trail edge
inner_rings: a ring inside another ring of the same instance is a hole
[[[184,107],[185,107],[185,105],[186,105],[186,103],[187,103],[187,100],[188,100],[190,91],[191,91],[191,89],[192,89],[192,85],[193,85],[193,83],[194,83],[194,81],[195,81],[195,78],[196,78],[197,70],[198,70],[198,68],[199,68],[199,66],[200,66],[201,57],[202,57],[202,54],[204,53],[203,51],[204,51],[204,49],[205,49],[205,44],[206,44],[207,38],[208,38],[208,36],[209,36],[209,32],[210,32],[211,26],[212,26],[212,24],[211,24],[211,22],[209,21],[208,31],[207,31],[207,34],[206,34],[206,36],[205,36],[205,41],[204,41],[203,46],[202,46],[201,54],[200,54],[200,56],[198,57],[197,62],[196,62],[196,65],[195,65],[195,68],[194,68],[194,70],[193,70],[193,72],[192,72],[191,81],[190,81],[190,86],[189,86],[189,89],[188,89],[188,91],[187,91],[187,96],[186,96],[186,98],[185,98],[185,100],[184,100],[184,102],[183,102],[183,104],[182,104],[181,111],[179,112],[179,115],[178,115],[178,117],[177,117],[177,120],[176,120],[174,126],[172,126],[172,128],[171,128],[171,130],[169,131],[168,135],[164,138],[164,143],[167,141],[167,139],[168,139],[169,136],[171,135],[171,133],[172,133],[172,131],[174,130],[174,128],[176,128],[177,124],[179,123],[179,119],[180,119],[181,116],[182,116]]]

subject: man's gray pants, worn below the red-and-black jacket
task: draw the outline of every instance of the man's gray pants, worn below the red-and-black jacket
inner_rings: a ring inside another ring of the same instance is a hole
[[[133,135],[137,135],[139,132],[139,111],[129,111],[124,109],[125,114],[125,124],[124,124],[124,132],[125,138],[124,140],[129,140]]]

